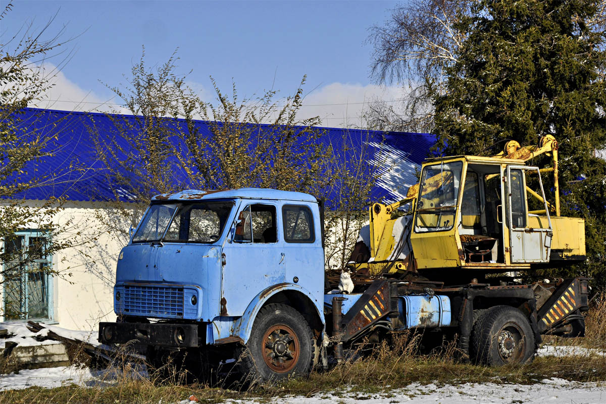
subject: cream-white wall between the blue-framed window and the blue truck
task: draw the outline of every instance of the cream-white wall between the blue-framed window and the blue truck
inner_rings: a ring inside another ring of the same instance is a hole
[[[53,217],[56,239],[74,243],[52,257],[53,270],[59,273],[53,276],[53,323],[68,329],[97,329],[100,321],[116,319],[116,262],[128,242],[130,222],[117,216],[110,204],[66,202],[63,206]],[[0,287],[0,297],[3,291]],[[4,299],[0,301],[3,304]]]

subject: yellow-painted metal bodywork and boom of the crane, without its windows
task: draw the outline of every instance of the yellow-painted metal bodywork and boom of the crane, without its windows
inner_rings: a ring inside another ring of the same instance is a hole
[[[503,176],[507,170],[508,165],[524,165],[525,162],[533,159],[533,157],[539,156],[539,154],[546,154],[551,157],[553,167],[541,168],[540,173],[553,173],[554,177],[554,204],[545,202],[550,211],[554,211],[555,216],[551,216],[551,225],[553,228],[553,240],[551,242],[552,250],[564,251],[564,258],[571,256],[584,256],[585,254],[585,232],[584,232],[584,221],[582,219],[576,219],[571,217],[560,217],[560,200],[559,200],[559,184],[558,184],[558,142],[551,136],[543,136],[539,145],[521,147],[518,142],[510,141],[506,144],[505,150],[496,156],[451,156],[442,157],[435,159],[427,159],[423,164],[423,168],[427,165],[436,164],[436,162],[444,162],[448,164],[451,162],[462,161],[463,168],[460,179],[460,187],[465,184],[465,176],[467,175],[468,164],[496,164],[500,166],[500,173],[490,174],[488,178],[495,176]],[[536,172],[536,171],[535,171]],[[452,177],[448,178],[446,173],[439,173],[433,177],[425,179],[424,188],[432,189],[432,187],[439,187],[443,182],[453,180]],[[387,271],[389,273],[402,272],[407,270],[407,262],[401,260],[396,262],[389,262],[388,259],[393,253],[395,243],[397,240],[394,239],[392,234],[395,219],[391,219],[391,213],[398,207],[409,202],[412,203],[412,211],[415,213],[413,217],[413,229],[414,224],[419,223],[425,224],[428,227],[435,227],[436,216],[435,214],[425,214],[416,211],[416,203],[419,199],[419,188],[420,184],[415,184],[408,188],[407,196],[405,199],[396,202],[391,205],[384,204],[373,204],[370,207],[370,252],[375,262],[368,262],[359,265],[359,268],[368,268],[370,274],[381,274]],[[505,187],[501,187],[501,200],[507,200],[505,195]],[[539,193],[536,193],[531,188],[526,187],[527,193],[541,202],[544,201],[544,197]],[[424,193],[427,194],[427,193]],[[479,267],[479,263],[465,263],[465,255],[462,249],[461,237],[459,236],[458,229],[459,223],[465,227],[473,227],[478,225],[480,222],[479,215],[462,215],[461,204],[462,204],[462,188],[459,190],[459,199],[456,205],[456,213],[450,214],[451,217],[442,216],[444,220],[451,220],[454,224],[453,228],[447,231],[424,231],[416,233],[411,231],[410,243],[414,251],[414,257],[416,266],[419,269],[425,268],[456,268],[456,267]],[[435,204],[434,200],[424,199],[424,207],[433,207]],[[528,212],[528,227],[529,228],[547,228],[547,216],[536,216],[536,214],[545,214],[544,210],[530,211]],[[499,214],[501,217],[505,217],[505,209],[503,206],[499,207]],[[504,262],[502,263],[482,263],[482,265],[489,265],[490,267],[502,267],[502,268],[530,268],[530,264],[511,264],[510,251],[510,232],[507,228],[507,222],[502,224],[502,246],[504,248]]]

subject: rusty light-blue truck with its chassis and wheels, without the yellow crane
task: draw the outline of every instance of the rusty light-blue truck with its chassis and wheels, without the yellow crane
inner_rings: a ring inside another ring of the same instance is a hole
[[[378,214],[375,205],[370,209]],[[371,216],[373,225],[374,233],[385,227]],[[364,261],[358,247],[354,273],[356,261]],[[392,248],[401,248],[397,240]],[[457,277],[409,267],[398,275],[393,260],[385,266],[380,274],[358,271],[354,290],[339,290],[325,271],[324,208],[309,194],[258,188],[159,194],[119,253],[118,319],[99,324],[99,341],[146,346],[150,366],[189,354],[206,369],[236,360],[242,373],[276,380],[308,374],[329,356],[341,360],[356,343],[406,329],[458,336],[464,359],[489,365],[525,362],[541,334],[584,333],[585,278],[530,285],[479,275],[486,271]],[[562,297],[566,315],[544,320],[553,308],[562,313]]]

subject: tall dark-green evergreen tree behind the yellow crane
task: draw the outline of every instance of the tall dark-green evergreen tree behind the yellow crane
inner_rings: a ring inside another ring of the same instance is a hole
[[[435,95],[435,132],[445,154],[496,153],[505,139],[531,145],[553,134],[562,216],[586,220],[588,260],[575,273],[604,287],[606,53],[598,12],[589,0],[476,2],[456,27],[467,39],[447,68],[447,91]]]

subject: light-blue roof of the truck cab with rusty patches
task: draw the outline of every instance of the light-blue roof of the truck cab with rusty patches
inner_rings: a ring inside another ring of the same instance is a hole
[[[281,199],[298,202],[318,202],[310,194],[293,191],[279,191],[270,188],[238,188],[236,190],[185,190],[170,194],[158,194],[151,198],[152,202],[164,200],[210,200],[210,199]]]

